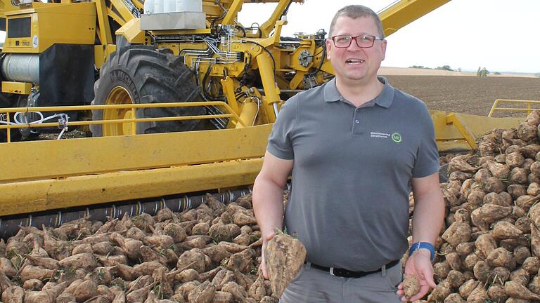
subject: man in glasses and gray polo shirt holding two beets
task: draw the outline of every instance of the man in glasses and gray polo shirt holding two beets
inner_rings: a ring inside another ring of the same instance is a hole
[[[346,6],[329,32],[335,79],[282,107],[253,189],[264,247],[285,224],[307,248],[280,302],[398,302],[411,188],[413,301],[435,287],[430,258],[444,217],[433,123],[423,102],[377,76],[387,44],[378,15]],[[264,259],[262,271],[267,278]]]

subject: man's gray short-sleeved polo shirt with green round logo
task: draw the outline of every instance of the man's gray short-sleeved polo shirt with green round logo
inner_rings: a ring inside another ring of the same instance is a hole
[[[439,170],[425,104],[392,88],[356,108],[335,79],[291,97],[281,108],[268,151],[294,159],[285,226],[307,248],[307,261],[371,271],[408,248],[411,178]]]

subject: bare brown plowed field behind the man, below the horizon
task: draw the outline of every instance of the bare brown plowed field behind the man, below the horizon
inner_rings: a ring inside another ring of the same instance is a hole
[[[486,116],[496,99],[540,100],[540,78],[385,76],[394,88],[423,100],[429,109]],[[512,107],[504,105],[503,107]],[[515,106],[514,106],[515,107]],[[525,107],[525,105],[521,105]],[[536,106],[540,107],[540,106]],[[494,116],[524,116],[496,112]]]

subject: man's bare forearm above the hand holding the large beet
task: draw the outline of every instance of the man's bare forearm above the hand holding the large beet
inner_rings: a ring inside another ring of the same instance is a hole
[[[262,236],[266,237],[283,228],[283,187],[269,180],[255,180],[253,185],[253,212]]]

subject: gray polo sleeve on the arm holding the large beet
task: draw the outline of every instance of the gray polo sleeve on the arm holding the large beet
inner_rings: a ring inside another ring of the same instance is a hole
[[[293,130],[297,120],[297,97],[291,97],[285,105],[281,107],[278,118],[272,133],[268,138],[268,146],[266,150],[274,156],[284,159],[293,160],[295,153],[293,151]]]

